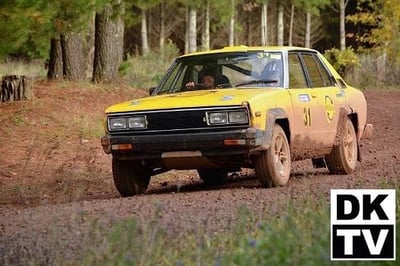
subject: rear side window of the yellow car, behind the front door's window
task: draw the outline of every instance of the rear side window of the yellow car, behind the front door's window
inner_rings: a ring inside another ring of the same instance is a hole
[[[311,87],[315,88],[332,86],[332,81],[329,78],[329,73],[316,54],[303,53],[302,57],[307,67]]]

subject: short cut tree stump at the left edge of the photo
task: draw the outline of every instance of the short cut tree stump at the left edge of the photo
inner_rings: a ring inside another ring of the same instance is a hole
[[[30,100],[33,98],[32,78],[23,75],[8,75],[2,78],[0,102]]]

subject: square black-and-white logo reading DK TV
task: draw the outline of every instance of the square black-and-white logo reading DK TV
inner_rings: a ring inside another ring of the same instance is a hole
[[[331,190],[331,260],[396,259],[396,190]]]

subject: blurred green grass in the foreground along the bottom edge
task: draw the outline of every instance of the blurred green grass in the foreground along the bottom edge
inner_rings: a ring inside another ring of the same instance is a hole
[[[389,186],[393,187],[393,186]],[[397,186],[395,186],[397,187]],[[399,192],[397,192],[399,204]],[[172,240],[157,220],[127,220],[85,251],[84,265],[330,265],[330,214],[325,197],[290,200],[279,216],[260,217],[238,209],[238,220],[223,232],[199,228]],[[397,209],[397,217],[400,211]],[[397,242],[399,220],[397,220]],[[132,237],[135,236],[135,237]],[[399,252],[397,245],[397,253]],[[341,262],[395,265],[395,262]]]

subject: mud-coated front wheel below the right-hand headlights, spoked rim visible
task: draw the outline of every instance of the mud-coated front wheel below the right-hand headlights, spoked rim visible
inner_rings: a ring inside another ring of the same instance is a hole
[[[263,187],[284,186],[290,176],[290,146],[282,127],[275,125],[270,148],[255,157],[255,173]]]

